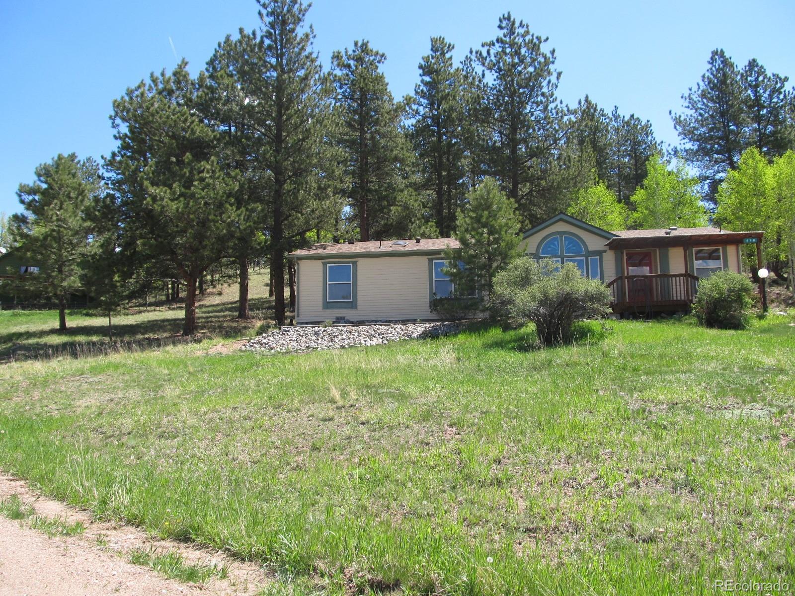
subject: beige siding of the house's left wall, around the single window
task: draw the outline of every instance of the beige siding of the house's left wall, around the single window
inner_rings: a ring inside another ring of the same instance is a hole
[[[432,258],[432,257],[430,257]],[[439,258],[442,258],[441,255]],[[436,319],[430,311],[428,256],[298,261],[298,323]],[[324,263],[356,261],[356,308],[323,308]]]

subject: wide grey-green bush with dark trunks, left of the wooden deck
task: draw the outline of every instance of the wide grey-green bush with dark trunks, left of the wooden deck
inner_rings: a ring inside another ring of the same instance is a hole
[[[572,263],[518,258],[494,279],[495,300],[513,319],[536,325],[545,346],[567,343],[572,326],[610,312],[610,292],[599,280],[580,275]]]

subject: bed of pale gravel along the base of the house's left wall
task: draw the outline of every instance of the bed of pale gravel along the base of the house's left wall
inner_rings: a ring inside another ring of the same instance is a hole
[[[459,322],[391,323],[385,325],[330,325],[328,327],[281,327],[263,333],[242,346],[242,350],[268,352],[305,352],[308,350],[334,350],[351,346],[378,346],[399,342],[401,339],[419,339],[455,333],[462,327]]]

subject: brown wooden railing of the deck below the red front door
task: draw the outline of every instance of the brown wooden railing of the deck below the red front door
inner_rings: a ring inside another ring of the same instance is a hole
[[[618,308],[692,304],[697,287],[698,277],[691,273],[621,275],[607,284]]]

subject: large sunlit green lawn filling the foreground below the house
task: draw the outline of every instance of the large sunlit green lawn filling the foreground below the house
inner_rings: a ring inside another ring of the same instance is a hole
[[[792,586],[790,323],[16,362],[0,367],[0,469],[267,563],[285,593]]]

